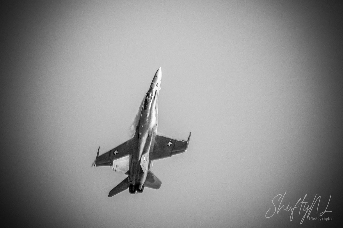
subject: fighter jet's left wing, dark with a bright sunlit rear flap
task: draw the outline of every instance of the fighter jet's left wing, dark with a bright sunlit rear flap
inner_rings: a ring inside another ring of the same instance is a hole
[[[111,166],[113,165],[113,161],[118,160],[120,163],[129,163],[128,155],[131,154],[132,151],[132,141],[133,138],[127,140],[125,143],[120,144],[119,146],[107,151],[106,153],[99,156],[99,149],[94,161],[94,166]],[[100,148],[100,147],[99,147]],[[125,157],[125,158],[124,158]],[[115,169],[115,167],[113,167]]]

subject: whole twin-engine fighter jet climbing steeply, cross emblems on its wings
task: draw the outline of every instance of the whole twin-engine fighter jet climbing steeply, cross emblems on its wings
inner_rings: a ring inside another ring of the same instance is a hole
[[[143,98],[133,138],[100,156],[100,147],[98,148],[94,166],[111,166],[113,171],[128,175],[109,192],[108,197],[126,189],[129,189],[131,194],[143,192],[144,187],[159,189],[162,182],[151,172],[152,162],[187,151],[191,133],[187,141],[157,133],[157,99],[161,79],[160,67]]]

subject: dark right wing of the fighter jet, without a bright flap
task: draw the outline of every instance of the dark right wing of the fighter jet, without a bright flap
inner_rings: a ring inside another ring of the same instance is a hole
[[[161,158],[171,157],[178,153],[183,153],[187,150],[189,139],[187,141],[178,140],[174,138],[169,138],[168,136],[163,136],[161,134],[156,134],[154,150],[150,152],[150,160],[157,160]]]

